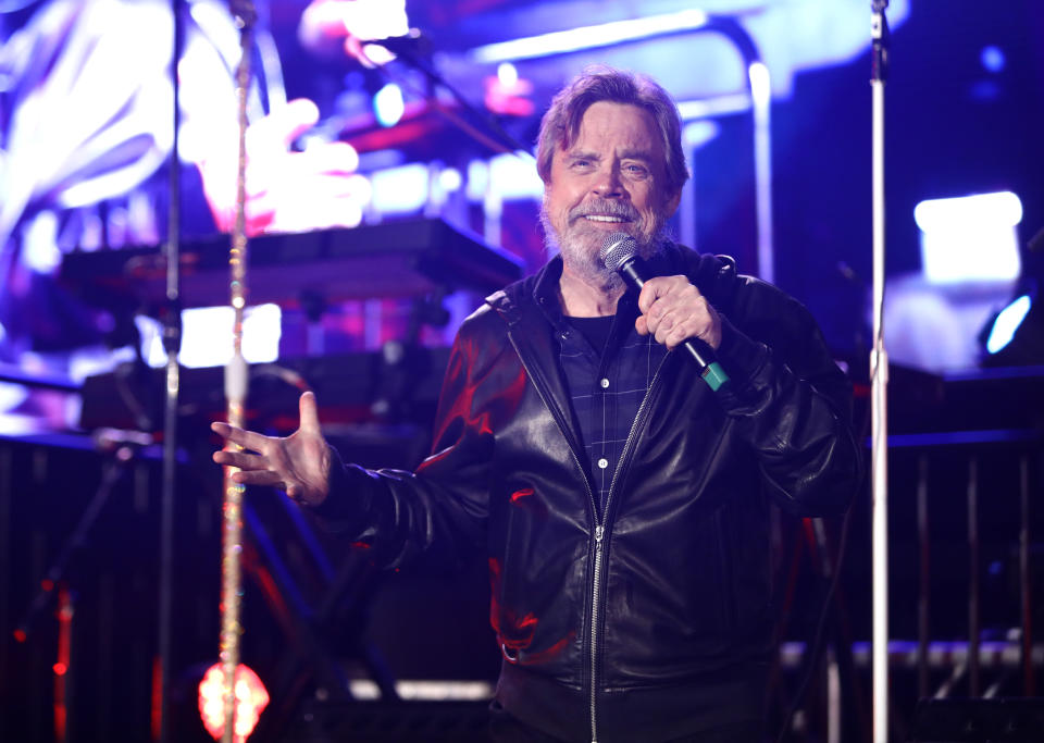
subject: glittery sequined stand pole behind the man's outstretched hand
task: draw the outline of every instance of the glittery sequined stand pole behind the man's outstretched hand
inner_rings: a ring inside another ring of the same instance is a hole
[[[235,314],[232,333],[233,354],[225,369],[225,400],[231,425],[243,426],[249,370],[243,357],[243,315],[246,307],[247,235],[246,235],[246,164],[247,164],[247,96],[250,89],[250,51],[253,47],[253,23],[257,13],[251,2],[233,2],[233,12],[240,27],[240,58],[236,71],[236,96],[239,107],[239,159],[236,175],[236,225],[228,251],[229,301]],[[221,664],[224,713],[223,743],[237,740],[236,671],[239,668],[240,608],[243,595],[243,494],[244,486],[232,481],[234,468],[224,472],[221,554]]]

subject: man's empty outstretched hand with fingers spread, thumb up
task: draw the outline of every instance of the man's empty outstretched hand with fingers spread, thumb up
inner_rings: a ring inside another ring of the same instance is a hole
[[[319,425],[315,395],[300,399],[300,424],[285,438],[245,431],[227,423],[211,423],[211,430],[244,450],[214,453],[219,465],[238,468],[232,481],[244,485],[271,485],[286,491],[298,503],[318,506],[328,492],[330,448]]]

